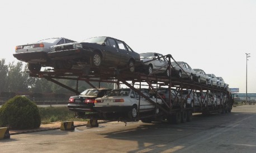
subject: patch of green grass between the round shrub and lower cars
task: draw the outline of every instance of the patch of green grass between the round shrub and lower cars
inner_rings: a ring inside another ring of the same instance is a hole
[[[69,111],[67,107],[38,107],[38,109],[42,124],[58,121],[87,121],[87,119],[75,118],[75,112]]]

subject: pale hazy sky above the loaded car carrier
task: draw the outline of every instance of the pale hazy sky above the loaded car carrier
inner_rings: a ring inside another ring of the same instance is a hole
[[[15,46],[51,37],[83,41],[110,36],[135,52],[171,54],[221,76],[230,88],[256,93],[256,1],[1,1],[0,59]]]

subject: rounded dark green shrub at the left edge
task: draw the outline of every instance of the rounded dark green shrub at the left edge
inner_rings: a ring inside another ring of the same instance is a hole
[[[39,128],[41,118],[36,103],[20,95],[9,99],[0,108],[0,126],[22,130]]]

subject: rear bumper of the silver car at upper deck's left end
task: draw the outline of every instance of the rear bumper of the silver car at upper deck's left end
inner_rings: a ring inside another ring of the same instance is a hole
[[[30,62],[40,63],[40,62],[46,62],[50,60],[47,56],[47,53],[43,51],[21,52],[21,53],[13,54],[13,56],[18,60],[25,61],[28,63]]]

